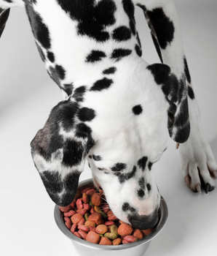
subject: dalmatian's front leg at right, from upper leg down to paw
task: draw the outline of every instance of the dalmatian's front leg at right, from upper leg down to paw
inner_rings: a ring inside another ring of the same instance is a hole
[[[188,187],[194,192],[201,192],[204,187],[208,193],[215,188],[217,165],[202,133],[200,109],[192,89],[175,3],[173,0],[135,0],[135,4],[143,9],[162,63],[170,66],[178,79],[183,74],[186,77],[191,132],[189,139],[179,146],[181,170]]]

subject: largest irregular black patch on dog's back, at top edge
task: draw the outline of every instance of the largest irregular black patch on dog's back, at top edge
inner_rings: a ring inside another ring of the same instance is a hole
[[[77,21],[77,32],[79,35],[87,36],[98,42],[109,39],[107,26],[115,23],[114,12],[116,5],[112,0],[57,0],[60,7],[70,15],[72,20]]]

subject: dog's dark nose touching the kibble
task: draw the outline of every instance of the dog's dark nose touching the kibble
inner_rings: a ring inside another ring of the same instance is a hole
[[[128,215],[127,219],[134,228],[146,230],[157,225],[159,215],[157,211],[150,215],[139,215],[136,213]]]

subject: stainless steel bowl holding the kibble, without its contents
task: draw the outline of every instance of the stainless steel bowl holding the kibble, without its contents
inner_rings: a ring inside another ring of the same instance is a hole
[[[79,183],[79,189],[83,190],[86,187],[92,185],[92,178],[87,179],[86,181],[82,181]],[[160,200],[160,208],[159,208],[159,222],[157,227],[155,227],[154,231],[152,231],[149,236],[136,241],[131,244],[120,244],[115,246],[109,245],[99,245],[99,244],[92,244],[90,242],[84,241],[81,238],[77,238],[74,236],[70,230],[66,227],[63,222],[63,214],[61,213],[58,206],[55,206],[55,222],[74,245],[74,248],[79,253],[80,256],[95,256],[95,255],[112,255],[112,256],[142,256],[146,252],[151,243],[151,240],[159,234],[162,228],[165,226],[168,217],[168,209],[167,203],[165,202],[164,198],[161,197]],[[71,250],[71,255],[74,255],[73,250]]]

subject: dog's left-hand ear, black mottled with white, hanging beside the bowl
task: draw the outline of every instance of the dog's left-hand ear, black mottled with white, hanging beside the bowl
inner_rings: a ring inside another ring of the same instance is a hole
[[[84,158],[94,145],[90,127],[76,117],[78,110],[77,102],[60,102],[31,141],[33,162],[58,206],[74,200]]]

